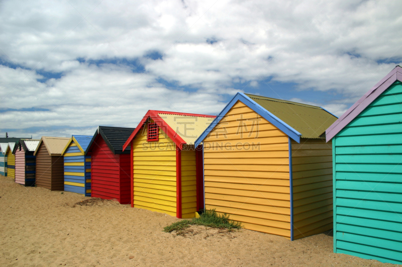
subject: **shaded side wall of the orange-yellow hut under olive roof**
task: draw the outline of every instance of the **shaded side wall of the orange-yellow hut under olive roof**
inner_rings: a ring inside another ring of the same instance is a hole
[[[293,237],[332,229],[332,143],[292,141]]]

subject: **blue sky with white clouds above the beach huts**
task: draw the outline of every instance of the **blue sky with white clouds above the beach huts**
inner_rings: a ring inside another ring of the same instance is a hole
[[[397,1],[2,1],[0,137],[93,135],[237,92],[340,116],[402,64]]]

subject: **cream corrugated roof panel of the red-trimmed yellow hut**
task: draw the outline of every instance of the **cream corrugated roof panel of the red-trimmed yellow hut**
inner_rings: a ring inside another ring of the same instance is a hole
[[[214,118],[177,114],[158,113],[163,121],[172,128],[188,145],[193,145],[198,136],[211,124]]]

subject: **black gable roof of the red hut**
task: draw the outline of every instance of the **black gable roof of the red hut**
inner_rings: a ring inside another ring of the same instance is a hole
[[[130,151],[123,151],[123,145],[134,130],[135,128],[98,126],[85,150],[85,155],[91,150],[93,141],[95,141],[96,136],[99,134],[105,140],[106,144],[108,144],[113,154],[129,154]]]

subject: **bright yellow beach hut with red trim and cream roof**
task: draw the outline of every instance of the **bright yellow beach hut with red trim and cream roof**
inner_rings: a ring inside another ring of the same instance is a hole
[[[195,139],[215,116],[149,110],[131,145],[131,206],[192,218],[204,206],[201,150]]]

